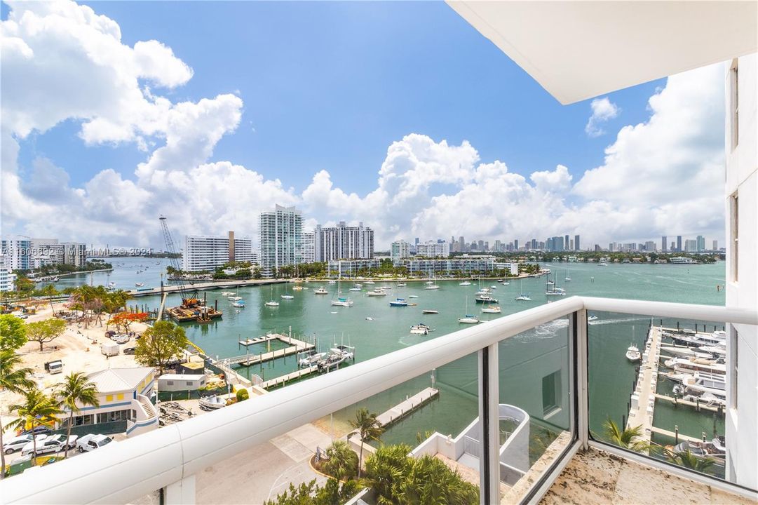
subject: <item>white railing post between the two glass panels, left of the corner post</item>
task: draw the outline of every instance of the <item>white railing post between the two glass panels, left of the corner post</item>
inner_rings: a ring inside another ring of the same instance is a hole
[[[500,502],[500,387],[497,343],[479,350],[479,502]]]

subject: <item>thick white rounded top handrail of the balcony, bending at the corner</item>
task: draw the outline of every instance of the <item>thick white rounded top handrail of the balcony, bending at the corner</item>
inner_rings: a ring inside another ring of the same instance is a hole
[[[0,481],[2,503],[127,503],[293,428],[582,309],[758,324],[758,312],[571,296]]]

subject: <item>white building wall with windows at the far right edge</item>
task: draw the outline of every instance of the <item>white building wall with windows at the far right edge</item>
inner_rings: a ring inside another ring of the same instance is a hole
[[[726,66],[726,306],[758,307],[758,55]],[[727,325],[726,475],[758,488],[758,328]],[[739,381],[738,381],[739,378]]]

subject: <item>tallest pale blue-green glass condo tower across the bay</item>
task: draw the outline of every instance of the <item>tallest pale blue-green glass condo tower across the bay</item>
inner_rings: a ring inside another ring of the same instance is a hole
[[[261,273],[271,277],[274,269],[302,262],[302,215],[295,207],[277,205],[261,212]]]

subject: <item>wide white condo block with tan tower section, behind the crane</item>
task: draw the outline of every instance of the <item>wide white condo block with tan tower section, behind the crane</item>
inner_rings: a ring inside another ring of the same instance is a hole
[[[252,240],[236,238],[229,231],[220,235],[186,235],[182,269],[184,271],[213,271],[228,262],[253,262]]]

